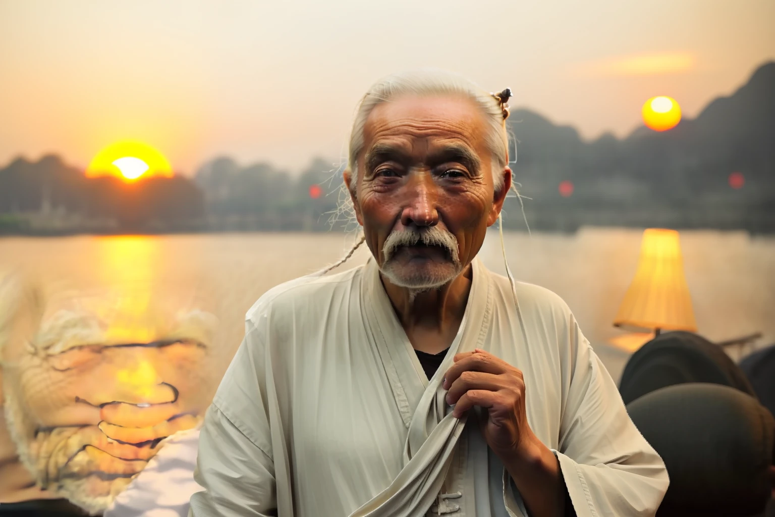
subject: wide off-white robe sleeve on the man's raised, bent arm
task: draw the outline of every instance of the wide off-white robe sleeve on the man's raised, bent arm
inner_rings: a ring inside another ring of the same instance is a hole
[[[654,515],[667,491],[665,465],[572,318],[569,338],[570,387],[553,452],[576,515]]]

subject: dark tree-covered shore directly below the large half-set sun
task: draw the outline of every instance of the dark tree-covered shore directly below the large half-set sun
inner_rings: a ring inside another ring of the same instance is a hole
[[[126,233],[202,229],[205,198],[182,176],[126,184],[86,178],[55,155],[0,169],[0,233]]]

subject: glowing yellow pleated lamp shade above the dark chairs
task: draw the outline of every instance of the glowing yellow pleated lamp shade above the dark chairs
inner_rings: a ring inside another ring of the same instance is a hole
[[[643,232],[638,270],[619,306],[614,325],[697,330],[677,231],[649,228]]]

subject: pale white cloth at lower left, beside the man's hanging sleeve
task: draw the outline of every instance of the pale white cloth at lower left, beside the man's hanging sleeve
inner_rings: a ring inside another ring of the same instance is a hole
[[[184,517],[202,487],[194,481],[199,429],[178,431],[105,510],[103,517]]]

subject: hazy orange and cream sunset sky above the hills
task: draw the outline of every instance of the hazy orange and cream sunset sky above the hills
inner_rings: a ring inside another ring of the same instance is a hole
[[[625,136],[647,98],[694,117],[775,59],[773,0],[0,0],[0,167],[116,140],[193,173],[227,154],[337,160],[356,102],[433,66],[512,106]]]

